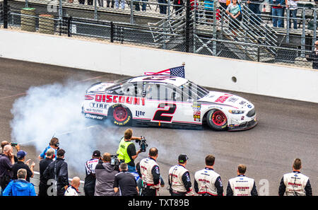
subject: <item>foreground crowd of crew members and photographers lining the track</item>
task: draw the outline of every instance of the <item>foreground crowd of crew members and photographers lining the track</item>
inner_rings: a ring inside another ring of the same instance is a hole
[[[141,151],[136,151],[133,141],[140,137],[132,135],[132,129],[126,129],[122,137],[117,155],[93,151],[90,160],[86,161],[86,177],[84,182],[85,196],[158,196],[160,187],[165,186],[157,162],[158,148],[152,147],[148,157],[139,163],[134,163]],[[18,144],[1,142],[0,155],[0,185],[3,196],[78,196],[81,185],[79,177],[73,177],[69,183],[68,165],[65,161],[63,148],[59,148],[59,139],[53,137],[49,146],[38,156],[40,159],[39,191],[30,183],[34,175],[35,163],[30,159],[25,161],[27,153]],[[16,149],[16,156],[13,153]],[[192,185],[189,170],[186,168],[189,160],[186,154],[178,156],[177,164],[169,170],[168,188],[172,196],[257,196],[254,179],[245,175],[247,167],[237,166],[237,177],[228,180],[228,186],[223,189],[220,175],[214,170],[215,157],[205,158],[205,167],[194,173]],[[293,172],[286,173],[281,178],[278,195],[312,196],[309,177],[300,173],[302,162],[299,158],[293,161]]]

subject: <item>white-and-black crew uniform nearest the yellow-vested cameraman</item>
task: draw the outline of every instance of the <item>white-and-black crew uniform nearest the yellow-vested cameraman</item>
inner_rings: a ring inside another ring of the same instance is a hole
[[[142,194],[144,196],[159,195],[160,170],[155,159],[148,157],[140,161],[140,171],[143,180]]]

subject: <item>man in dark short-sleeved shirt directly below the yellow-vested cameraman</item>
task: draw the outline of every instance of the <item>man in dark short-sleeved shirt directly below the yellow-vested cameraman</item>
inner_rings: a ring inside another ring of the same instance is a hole
[[[131,173],[129,173],[126,163],[122,163],[119,166],[120,173],[117,173],[114,177],[114,192],[119,192],[122,196],[137,196],[139,189],[137,182]]]

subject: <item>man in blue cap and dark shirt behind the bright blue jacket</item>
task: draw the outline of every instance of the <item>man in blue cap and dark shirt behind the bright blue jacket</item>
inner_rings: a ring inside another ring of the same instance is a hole
[[[13,164],[13,167],[12,167],[12,172],[13,172],[13,177],[12,179],[13,180],[16,180],[18,179],[17,175],[18,175],[18,170],[20,168],[24,168],[26,171],[27,171],[27,177],[25,180],[27,180],[27,182],[30,182],[30,177],[33,177],[34,175],[34,166],[35,166],[35,163],[33,162],[29,168],[29,164],[30,164],[30,159],[28,161],[25,161],[25,156],[27,155],[27,153],[23,150],[20,150],[18,151],[18,153],[16,153],[16,157],[18,158],[18,162],[14,163]]]

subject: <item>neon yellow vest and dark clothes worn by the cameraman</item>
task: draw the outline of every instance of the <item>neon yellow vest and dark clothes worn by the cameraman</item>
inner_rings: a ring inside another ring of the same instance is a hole
[[[132,156],[136,156],[136,147],[134,142],[125,141],[124,137],[120,140],[118,150],[117,150],[119,161],[122,163],[127,163],[128,171],[136,171],[134,159]]]

